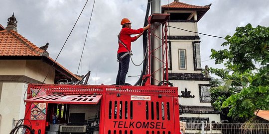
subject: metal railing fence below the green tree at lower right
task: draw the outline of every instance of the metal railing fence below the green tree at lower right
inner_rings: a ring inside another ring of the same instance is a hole
[[[269,134],[269,124],[186,123],[184,134]]]

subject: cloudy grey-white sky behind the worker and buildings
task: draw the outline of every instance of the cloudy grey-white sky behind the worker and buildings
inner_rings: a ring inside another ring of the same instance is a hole
[[[49,42],[48,52],[55,59],[87,0],[2,0],[0,24],[6,26],[12,13],[22,36],[40,47]],[[167,4],[173,0],[161,0]],[[212,3],[210,10],[198,22],[198,32],[225,37],[233,35],[237,26],[269,26],[269,0],[179,0],[194,5]],[[57,62],[77,73],[94,0],[89,0]],[[78,74],[91,71],[89,84],[114,84],[118,71],[117,35],[124,17],[133,22],[132,28],[143,26],[147,0],[96,0],[89,34]],[[201,37],[202,67],[221,67],[209,60],[211,49],[221,49],[224,39]],[[142,61],[142,38],[132,44],[134,63]],[[209,60],[209,61],[207,61]],[[130,64],[127,75],[137,76],[140,67]],[[134,84],[137,77],[127,77]]]

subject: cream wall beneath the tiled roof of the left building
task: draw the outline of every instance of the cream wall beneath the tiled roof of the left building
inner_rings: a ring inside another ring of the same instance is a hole
[[[54,84],[55,70],[41,60],[0,60],[0,134],[10,133],[12,119],[23,119],[23,95],[27,84],[31,81],[43,82],[49,70],[44,83]],[[5,76],[10,77],[6,80]]]

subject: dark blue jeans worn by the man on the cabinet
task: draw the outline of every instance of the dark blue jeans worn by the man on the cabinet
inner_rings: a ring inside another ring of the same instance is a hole
[[[119,53],[118,59],[125,53],[126,52]],[[129,69],[129,63],[130,63],[130,55],[126,55],[125,57],[123,57],[121,61],[119,61],[119,70],[116,85],[125,85],[125,79]]]

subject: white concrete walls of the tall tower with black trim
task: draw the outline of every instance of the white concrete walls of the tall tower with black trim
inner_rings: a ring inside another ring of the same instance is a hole
[[[201,71],[201,59],[200,59],[200,46],[199,46],[199,35],[198,35],[198,27],[197,27],[197,12],[194,10],[165,10],[164,13],[190,13],[190,18],[193,16],[194,20],[172,20],[173,22],[169,23],[170,28],[168,28],[168,35],[171,36],[170,43],[171,43],[171,62],[172,62],[172,70],[169,70],[170,73],[178,73],[180,75],[183,74],[193,74],[193,76],[197,76],[197,78],[189,78],[185,77],[184,80],[169,80],[173,83],[173,86],[178,87],[178,93],[179,95],[182,95],[181,91],[185,91],[185,88],[187,88],[187,91],[190,91],[190,95],[194,95],[194,98],[179,98],[179,103],[183,106],[189,106],[192,107],[191,110],[193,110],[192,114],[183,114],[180,115],[180,117],[186,117],[186,118],[209,118],[209,121],[216,121],[220,122],[220,114],[212,114],[217,112],[212,112],[211,103],[208,101],[210,100],[208,92],[203,92],[203,95],[205,96],[202,101],[200,101],[200,92],[199,92],[199,85],[203,87],[203,90],[206,90],[207,88],[204,88],[207,84],[209,84],[209,81],[203,81],[203,78],[200,78],[202,74]],[[180,18],[180,17],[178,17]],[[188,19],[190,19],[188,18]],[[176,28],[172,28],[176,27]],[[180,29],[178,29],[180,28]],[[192,31],[184,31],[184,30]],[[196,33],[195,33],[196,32]],[[174,39],[174,40],[172,40]],[[196,57],[195,57],[195,64],[197,67],[194,67],[194,52],[193,52],[193,43],[195,44],[196,49]],[[186,69],[179,68],[179,59],[178,59],[178,49],[186,50]],[[199,69],[199,70],[195,70]],[[176,75],[175,75],[176,76]],[[187,76],[187,75],[186,75]],[[205,85],[203,85],[205,84]],[[196,108],[197,106],[197,108]],[[211,107],[211,108],[210,108]],[[200,114],[196,114],[196,112],[199,112],[201,108],[204,108]],[[190,110],[190,109],[189,109]],[[194,112],[194,110],[196,112]],[[211,112],[206,112],[206,111]],[[207,113],[207,114],[203,114]]]

